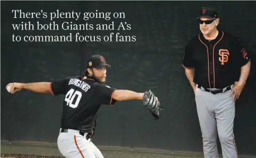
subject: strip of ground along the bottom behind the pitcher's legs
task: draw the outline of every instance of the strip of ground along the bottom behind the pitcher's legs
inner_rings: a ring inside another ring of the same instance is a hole
[[[117,149],[102,149],[99,148],[105,158],[189,158],[189,157],[203,157],[203,156],[191,156],[191,155],[175,155],[163,154],[163,153],[151,153],[151,152],[138,152],[138,151],[118,151]],[[23,158],[47,158],[47,157],[62,157],[56,146],[21,146],[21,145],[5,145],[1,144],[1,157],[23,157]]]

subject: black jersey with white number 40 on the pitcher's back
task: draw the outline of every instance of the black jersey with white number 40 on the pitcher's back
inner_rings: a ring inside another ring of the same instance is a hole
[[[52,95],[65,95],[61,128],[94,134],[98,110],[102,104],[114,106],[116,100],[112,93],[115,90],[90,77],[65,77],[51,82]]]

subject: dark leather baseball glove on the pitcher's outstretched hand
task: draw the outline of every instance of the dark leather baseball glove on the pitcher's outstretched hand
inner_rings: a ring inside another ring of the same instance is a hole
[[[157,97],[154,96],[150,89],[147,89],[143,96],[143,106],[150,110],[153,119],[159,119],[159,105]]]

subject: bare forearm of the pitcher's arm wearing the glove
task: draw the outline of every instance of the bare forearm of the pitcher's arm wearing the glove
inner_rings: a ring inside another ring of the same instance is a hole
[[[137,93],[129,90],[116,90],[112,97],[115,100],[143,100],[144,93]]]

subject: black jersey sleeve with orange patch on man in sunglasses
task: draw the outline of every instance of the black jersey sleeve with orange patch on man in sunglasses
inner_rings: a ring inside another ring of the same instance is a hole
[[[240,66],[246,65],[248,61],[250,61],[250,55],[248,54],[244,44],[238,40],[238,38],[233,37],[232,43],[233,53],[236,56],[236,61],[238,61]]]

